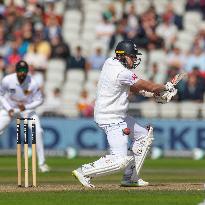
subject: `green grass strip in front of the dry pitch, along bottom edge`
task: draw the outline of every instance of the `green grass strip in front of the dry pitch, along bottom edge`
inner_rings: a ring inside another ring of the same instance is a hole
[[[197,205],[204,199],[200,192],[150,192],[143,191],[85,191],[85,192],[42,192],[42,193],[1,193],[0,204],[140,204],[140,205]]]

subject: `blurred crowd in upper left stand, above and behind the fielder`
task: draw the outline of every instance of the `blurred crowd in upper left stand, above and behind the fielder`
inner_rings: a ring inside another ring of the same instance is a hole
[[[28,1],[20,7],[13,0],[8,5],[1,0],[0,70],[4,75],[14,72],[16,62],[25,59],[31,74],[38,72],[37,81],[43,86],[48,59],[58,55],[67,59],[70,55],[61,38],[62,20],[54,12],[53,3],[45,7]]]

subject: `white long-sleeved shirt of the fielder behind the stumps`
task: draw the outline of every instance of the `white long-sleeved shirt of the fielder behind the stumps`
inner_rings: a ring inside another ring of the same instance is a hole
[[[0,102],[4,109],[18,109],[17,104],[23,103],[26,110],[32,110],[43,102],[42,93],[34,79],[27,75],[22,84],[16,73],[5,76],[0,84]]]

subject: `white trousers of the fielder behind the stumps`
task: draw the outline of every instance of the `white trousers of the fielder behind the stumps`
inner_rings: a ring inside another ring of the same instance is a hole
[[[42,140],[43,129],[41,128],[39,117],[36,115],[34,111],[24,111],[21,112],[21,117],[23,118],[33,118],[36,123],[36,152],[38,156],[38,164],[42,165],[45,163],[45,154],[44,154],[44,146]],[[11,118],[8,115],[8,112],[4,109],[0,110],[0,134],[3,133],[4,129],[11,122]],[[29,129],[31,129],[31,122],[29,121]]]

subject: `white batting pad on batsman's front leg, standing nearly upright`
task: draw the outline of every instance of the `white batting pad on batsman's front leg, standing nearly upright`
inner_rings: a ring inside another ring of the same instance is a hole
[[[142,136],[133,143],[132,151],[134,153],[135,168],[137,175],[139,175],[140,169],[144,163],[144,160],[147,156],[147,153],[150,149],[153,140],[153,128],[150,127],[148,134],[146,136]]]

